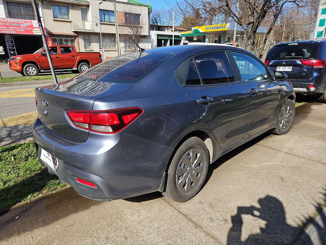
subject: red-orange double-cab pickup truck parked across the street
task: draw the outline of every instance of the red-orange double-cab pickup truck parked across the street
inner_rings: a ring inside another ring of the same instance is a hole
[[[82,73],[102,62],[99,52],[76,52],[74,46],[53,45],[49,47],[55,71]],[[44,47],[33,54],[16,55],[8,60],[10,70],[25,76],[36,76],[40,72],[50,72],[50,64]]]

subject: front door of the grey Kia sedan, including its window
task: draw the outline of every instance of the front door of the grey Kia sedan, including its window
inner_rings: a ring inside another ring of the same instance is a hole
[[[272,75],[257,57],[241,51],[230,53],[238,69],[239,79],[249,93],[244,135],[247,138],[276,122],[280,107],[280,86],[272,80]]]

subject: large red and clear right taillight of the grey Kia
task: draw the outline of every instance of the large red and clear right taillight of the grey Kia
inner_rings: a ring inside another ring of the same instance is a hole
[[[143,110],[139,107],[129,107],[105,111],[75,111],[67,110],[70,121],[79,128],[93,132],[114,134],[126,128],[136,120]]]

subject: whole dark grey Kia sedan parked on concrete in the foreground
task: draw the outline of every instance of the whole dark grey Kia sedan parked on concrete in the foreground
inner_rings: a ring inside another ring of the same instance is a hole
[[[161,191],[185,202],[210,163],[264,132],[287,133],[295,117],[286,74],[230,45],[128,53],[35,94],[41,164],[101,201]]]

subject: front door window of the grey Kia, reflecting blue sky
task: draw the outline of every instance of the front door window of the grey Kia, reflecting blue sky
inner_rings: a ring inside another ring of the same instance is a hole
[[[261,81],[269,79],[266,68],[255,58],[237,52],[231,52],[243,81]]]

